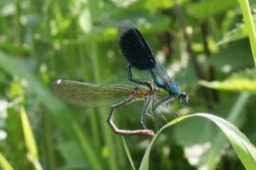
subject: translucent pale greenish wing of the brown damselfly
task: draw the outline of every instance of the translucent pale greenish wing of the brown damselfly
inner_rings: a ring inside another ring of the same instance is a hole
[[[61,101],[85,107],[97,107],[122,101],[129,97],[133,86],[123,84],[102,85],[85,82],[58,80],[52,86],[52,93]]]

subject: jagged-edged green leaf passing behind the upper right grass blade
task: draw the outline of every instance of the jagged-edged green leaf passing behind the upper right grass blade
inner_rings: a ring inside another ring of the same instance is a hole
[[[256,16],[252,17],[253,23],[256,23]],[[221,39],[219,42],[217,42],[217,45],[223,45],[228,42],[233,42],[235,40],[240,40],[242,38],[248,37],[248,31],[245,26],[245,23],[238,23],[236,25],[236,28],[233,30],[230,30],[230,32],[226,33],[224,35],[223,39]]]

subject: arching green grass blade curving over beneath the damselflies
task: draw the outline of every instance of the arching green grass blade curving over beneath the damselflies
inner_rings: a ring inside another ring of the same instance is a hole
[[[207,118],[208,120],[212,120],[213,123],[218,125],[218,127],[224,132],[225,136],[228,137],[228,141],[233,146],[233,149],[235,149],[236,154],[238,154],[238,157],[240,158],[240,161],[242,164],[244,164],[245,168],[248,170],[253,170],[256,167],[256,148],[250,140],[247,139],[245,135],[238,130],[234,125],[229,123],[228,121],[224,120],[223,118],[219,118],[215,115],[210,115],[207,113],[195,113],[193,115],[186,115],[182,116],[180,118],[176,118],[172,120],[171,122],[164,125],[163,128],[161,128],[154,138],[149,143],[149,146],[146,148],[146,152],[144,154],[144,157],[142,159],[142,164],[139,168],[139,170],[148,170],[149,169],[149,154],[151,151],[151,147],[154,144],[154,141],[159,136],[162,130],[168,128],[171,125],[174,125],[176,123],[179,123],[181,120],[185,120],[186,118],[191,117],[203,117]]]

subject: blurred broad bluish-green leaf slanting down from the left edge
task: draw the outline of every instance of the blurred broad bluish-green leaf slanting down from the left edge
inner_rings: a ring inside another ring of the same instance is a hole
[[[19,79],[27,81],[28,86],[26,90],[40,96],[42,103],[49,109],[50,115],[54,117],[53,119],[55,120],[55,123],[63,128],[65,132],[73,135],[73,131],[67,126],[70,123],[70,120],[73,119],[72,113],[70,113],[68,107],[50,94],[50,88],[47,88],[46,85],[36,77],[33,70],[28,67],[28,64],[26,64],[28,63],[28,60],[20,60],[1,51],[0,60],[1,69],[6,73],[11,74],[12,77],[18,77]]]

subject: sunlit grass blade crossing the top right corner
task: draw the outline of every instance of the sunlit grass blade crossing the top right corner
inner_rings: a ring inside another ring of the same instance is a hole
[[[255,25],[252,20],[252,13],[250,11],[250,4],[248,0],[238,0],[238,3],[242,10],[242,16],[245,19],[245,26],[249,34],[250,45],[252,47],[253,60],[256,66],[256,32],[255,32]]]

